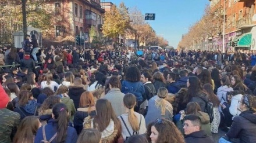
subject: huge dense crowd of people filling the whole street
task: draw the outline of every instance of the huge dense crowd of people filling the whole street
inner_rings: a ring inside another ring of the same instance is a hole
[[[1,71],[0,142],[211,143],[219,130],[219,142],[256,140],[256,53],[136,55],[29,40],[33,49],[2,53],[20,66]]]

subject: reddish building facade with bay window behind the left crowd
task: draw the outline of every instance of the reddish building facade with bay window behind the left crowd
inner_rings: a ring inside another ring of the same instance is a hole
[[[105,11],[101,8],[100,0],[54,0],[47,5],[54,13],[52,37],[88,37],[91,27],[101,32]]]

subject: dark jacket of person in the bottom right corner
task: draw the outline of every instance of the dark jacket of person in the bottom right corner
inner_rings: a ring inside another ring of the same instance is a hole
[[[255,134],[256,115],[251,111],[244,111],[234,117],[227,137],[240,138],[241,143],[252,143],[256,141]]]

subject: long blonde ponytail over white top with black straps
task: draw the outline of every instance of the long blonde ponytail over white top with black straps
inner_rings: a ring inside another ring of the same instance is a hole
[[[140,125],[138,123],[137,116],[135,115],[133,110],[134,106],[136,105],[136,97],[131,93],[125,94],[125,97],[123,97],[123,104],[125,104],[125,106],[129,109],[128,121],[131,125],[131,128],[134,131],[140,130]]]

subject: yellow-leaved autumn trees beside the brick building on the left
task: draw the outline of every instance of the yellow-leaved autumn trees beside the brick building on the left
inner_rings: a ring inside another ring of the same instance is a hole
[[[105,13],[102,32],[105,37],[116,39],[118,43],[120,37],[135,39],[138,48],[153,45],[168,46],[168,41],[156,34],[151,25],[144,20],[143,15],[137,8],[127,9],[123,2],[118,7],[113,5],[111,10]]]

